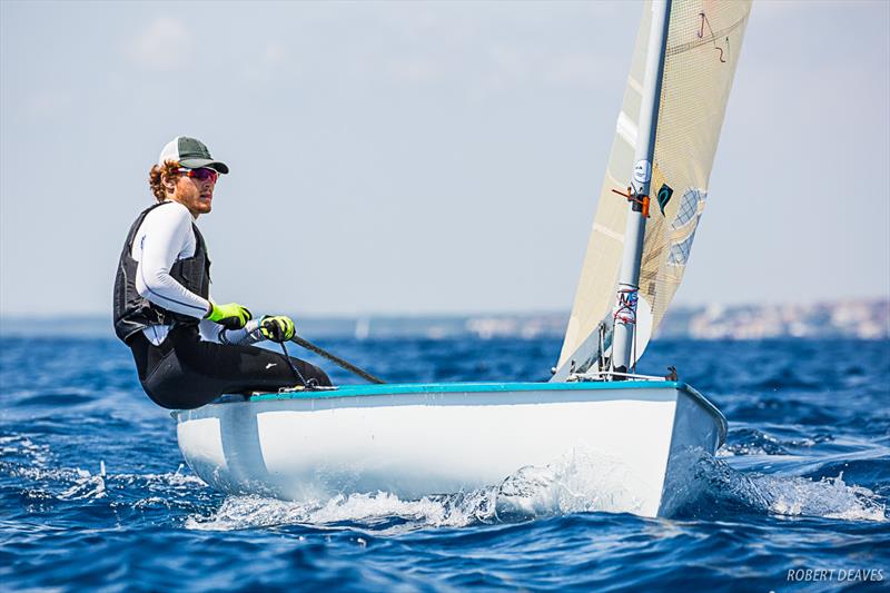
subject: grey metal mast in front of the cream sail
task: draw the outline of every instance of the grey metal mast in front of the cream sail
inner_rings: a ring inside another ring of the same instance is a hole
[[[612,343],[612,368],[626,373],[632,364],[636,303],[640,290],[640,261],[643,256],[646,216],[649,215],[652,160],[655,152],[655,130],[659,126],[659,101],[664,73],[664,52],[668,42],[672,0],[653,0],[649,55],[643,78],[643,100],[634,150],[634,167],[630,186],[627,226],[624,231],[624,253],[619,276],[615,304],[615,327]]]

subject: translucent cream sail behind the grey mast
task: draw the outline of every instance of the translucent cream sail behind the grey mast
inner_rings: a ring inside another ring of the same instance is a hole
[[[636,357],[683,279],[750,10],[750,0],[672,2],[640,273],[639,316],[651,317],[652,325],[637,337]],[[613,190],[623,191],[633,170],[651,20],[645,2],[558,367],[601,323],[611,327],[629,210]]]

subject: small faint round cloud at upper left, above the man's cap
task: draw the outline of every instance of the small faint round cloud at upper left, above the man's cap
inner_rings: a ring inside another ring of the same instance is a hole
[[[130,40],[127,55],[149,70],[176,70],[191,56],[188,28],[179,19],[158,17]]]

